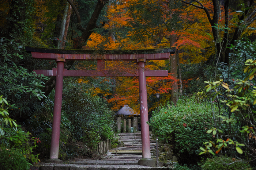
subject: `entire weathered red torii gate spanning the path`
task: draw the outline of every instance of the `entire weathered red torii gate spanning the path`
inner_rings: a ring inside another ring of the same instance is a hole
[[[139,94],[140,94],[140,119],[142,133],[142,159],[139,165],[155,166],[155,160],[151,159],[150,139],[147,108],[147,86],[146,76],[168,76],[167,70],[145,70],[147,60],[163,60],[169,59],[170,54],[174,54],[176,47],[150,50],[125,50],[125,51],[93,51],[93,50],[64,50],[64,49],[45,49],[26,46],[27,53],[31,53],[35,59],[50,59],[57,62],[57,69],[52,70],[34,70],[37,74],[44,76],[56,76],[56,88],[53,107],[53,125],[52,140],[50,146],[50,159],[46,162],[62,163],[59,158],[59,142],[60,142],[60,120],[61,120],[61,104],[63,92],[63,76],[119,76],[113,75],[105,70],[105,61],[137,61],[139,65],[138,72],[123,73],[121,76],[138,76],[139,77]],[[95,56],[93,54],[99,54]],[[67,70],[64,69],[66,60],[95,60],[97,59],[97,70]]]

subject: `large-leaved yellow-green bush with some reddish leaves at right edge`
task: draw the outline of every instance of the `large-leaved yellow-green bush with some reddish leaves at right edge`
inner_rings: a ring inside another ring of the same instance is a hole
[[[218,94],[221,94],[224,100],[222,103],[226,103],[228,106],[228,115],[217,115],[221,119],[219,123],[226,124],[228,131],[223,132],[225,128],[216,126],[207,131],[207,133],[215,133],[218,136],[216,145],[213,142],[205,142],[205,148],[200,148],[203,152],[200,154],[212,155],[221,154],[221,151],[225,150],[225,154],[231,157],[239,157],[240,159],[255,159],[255,104],[256,104],[256,86],[255,86],[255,73],[256,73],[256,60],[248,59],[245,62],[244,79],[235,80],[234,89],[230,89],[230,86],[223,80],[215,82],[206,82],[207,91],[214,89],[215,95],[212,100]],[[217,98],[218,99],[218,98]],[[236,119],[234,119],[234,117]],[[236,128],[232,125],[235,122]],[[238,132],[239,131],[239,132]],[[219,133],[219,134],[218,134]],[[209,145],[207,145],[209,144]],[[222,149],[223,148],[223,149]],[[212,152],[214,150],[214,152]],[[236,152],[234,152],[236,150]],[[245,154],[243,154],[245,152]],[[255,164],[255,162],[251,162]]]

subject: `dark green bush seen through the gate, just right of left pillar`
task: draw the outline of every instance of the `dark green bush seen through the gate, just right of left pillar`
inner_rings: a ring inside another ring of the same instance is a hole
[[[95,148],[100,140],[113,139],[114,115],[104,99],[93,95],[93,88],[89,84],[65,78],[63,111],[69,120],[66,126],[68,143],[75,139],[89,148]]]

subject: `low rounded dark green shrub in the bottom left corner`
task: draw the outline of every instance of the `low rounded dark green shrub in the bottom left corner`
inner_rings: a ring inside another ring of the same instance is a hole
[[[28,170],[31,165],[18,151],[0,148],[0,170]]]

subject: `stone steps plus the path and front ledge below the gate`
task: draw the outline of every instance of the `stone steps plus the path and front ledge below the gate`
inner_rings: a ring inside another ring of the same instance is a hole
[[[108,151],[106,159],[91,160],[77,159],[63,164],[38,163],[31,166],[31,170],[170,170],[172,162],[162,163],[163,167],[148,167],[138,165],[142,158],[141,133],[120,133],[119,140],[122,145]],[[151,136],[151,135],[150,135]],[[155,158],[156,141],[150,137],[151,158]],[[177,162],[177,161],[176,161]],[[164,167],[166,166],[166,167]]]

